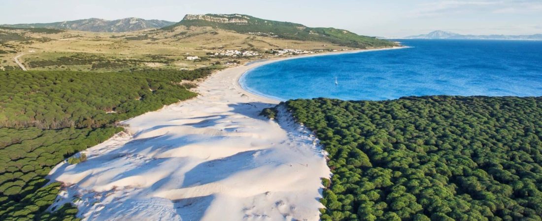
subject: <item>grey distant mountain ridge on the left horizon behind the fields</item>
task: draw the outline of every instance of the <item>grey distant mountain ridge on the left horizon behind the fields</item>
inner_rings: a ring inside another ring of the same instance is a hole
[[[175,22],[168,22],[156,19],[145,20],[142,18],[122,18],[113,21],[108,21],[100,18],[88,18],[65,22],[4,24],[0,26],[8,26],[12,28],[54,28],[93,32],[128,32],[143,29],[163,28],[165,26],[173,24],[175,24]]]

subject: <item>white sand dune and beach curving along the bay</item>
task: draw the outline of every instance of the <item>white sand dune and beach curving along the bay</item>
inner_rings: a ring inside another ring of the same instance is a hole
[[[279,101],[238,83],[299,57],[222,70],[198,97],[126,120],[129,133],[83,151],[87,162],[50,172],[69,186],[51,208],[74,202],[88,220],[318,220],[326,153],[286,110],[259,116]]]

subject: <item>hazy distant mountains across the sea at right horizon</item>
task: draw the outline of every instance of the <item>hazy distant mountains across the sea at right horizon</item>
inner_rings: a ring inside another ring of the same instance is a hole
[[[461,35],[448,31],[432,31],[425,35],[406,36],[406,39],[494,39],[494,40],[542,40],[537,35]]]

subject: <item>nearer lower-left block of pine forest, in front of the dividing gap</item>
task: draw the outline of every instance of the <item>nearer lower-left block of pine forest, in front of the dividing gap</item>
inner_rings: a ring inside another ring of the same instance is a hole
[[[45,217],[51,215],[45,210],[53,204],[60,183],[46,185],[49,180],[44,177],[67,156],[122,130],[0,128],[0,220],[47,220]],[[54,214],[51,218],[71,217],[62,212]]]

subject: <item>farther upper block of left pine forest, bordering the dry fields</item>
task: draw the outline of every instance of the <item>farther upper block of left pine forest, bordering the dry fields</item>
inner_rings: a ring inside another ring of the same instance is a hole
[[[1,71],[0,126],[100,127],[196,96],[175,82],[211,71]]]

